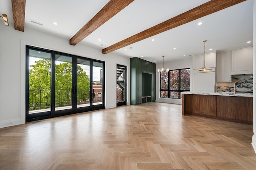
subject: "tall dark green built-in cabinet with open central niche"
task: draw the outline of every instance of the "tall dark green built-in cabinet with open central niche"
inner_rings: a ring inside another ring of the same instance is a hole
[[[151,101],[156,100],[156,64],[133,57],[130,59],[130,104],[141,104],[144,94],[151,95]]]

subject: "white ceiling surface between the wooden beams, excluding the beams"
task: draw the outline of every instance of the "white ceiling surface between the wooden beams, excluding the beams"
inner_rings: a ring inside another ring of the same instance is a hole
[[[26,0],[25,32],[26,28],[33,28],[70,40],[108,2]],[[80,43],[104,49],[205,2],[208,0],[134,0]],[[9,24],[13,24],[11,0],[0,0],[2,13],[7,14]],[[44,26],[31,23],[30,20]],[[198,26],[198,22],[203,24]],[[153,38],[155,41],[152,41]],[[247,43],[252,42],[252,39],[253,0],[246,0],[112,53],[129,58],[144,56],[142,59],[161,63],[162,55],[165,55],[164,61],[175,61],[186,59],[189,55],[203,54],[203,40],[207,40],[207,53],[210,48],[212,51],[224,51],[252,46],[252,43]]]

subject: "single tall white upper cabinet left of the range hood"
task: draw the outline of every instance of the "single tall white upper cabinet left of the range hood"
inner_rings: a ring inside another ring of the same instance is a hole
[[[217,82],[231,82],[230,51],[217,53],[216,80]]]

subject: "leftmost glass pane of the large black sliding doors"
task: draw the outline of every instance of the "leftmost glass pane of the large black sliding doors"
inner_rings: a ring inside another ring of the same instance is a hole
[[[29,50],[29,114],[50,111],[50,58],[51,53]]]

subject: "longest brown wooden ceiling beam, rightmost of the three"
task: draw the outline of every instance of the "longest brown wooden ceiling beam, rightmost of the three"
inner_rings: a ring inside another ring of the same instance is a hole
[[[102,49],[102,53],[110,53],[122,47],[126,47],[127,45],[130,45],[132,43],[139,42],[156,34],[160,34],[172,28],[181,26],[183,24],[186,24],[198,18],[202,18],[204,16],[228,8],[243,1],[245,0],[211,0],[196,8],[193,8],[192,10],[189,10],[178,16],[175,16],[174,18],[164,21],[156,26],[148,28],[147,30],[144,30],[134,36],[115,43],[114,45],[106,47],[105,49]]]

